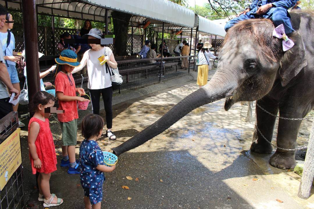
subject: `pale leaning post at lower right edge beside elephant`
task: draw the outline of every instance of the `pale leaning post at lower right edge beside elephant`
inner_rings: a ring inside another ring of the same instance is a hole
[[[312,129],[307,145],[305,162],[302,172],[298,196],[302,199],[309,198],[311,194],[311,186],[314,177],[314,119],[312,122]]]

